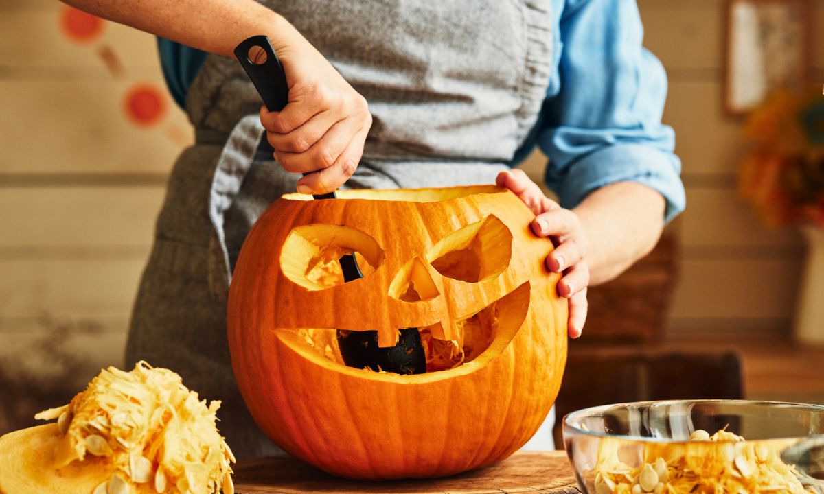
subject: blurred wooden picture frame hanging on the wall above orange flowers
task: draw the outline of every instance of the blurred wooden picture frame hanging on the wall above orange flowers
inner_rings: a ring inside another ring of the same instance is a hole
[[[724,109],[747,114],[775,91],[808,84],[809,0],[727,0]]]

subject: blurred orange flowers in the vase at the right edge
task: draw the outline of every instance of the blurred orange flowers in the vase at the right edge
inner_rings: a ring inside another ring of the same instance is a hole
[[[768,226],[824,227],[824,96],[779,92],[747,118],[752,143],[738,179],[742,197]]]

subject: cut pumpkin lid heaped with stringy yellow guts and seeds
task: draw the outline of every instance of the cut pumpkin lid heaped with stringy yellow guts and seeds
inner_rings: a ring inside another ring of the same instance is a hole
[[[208,405],[180,375],[139,362],[109,367],[57,419],[0,437],[0,493],[232,494],[232,451]]]

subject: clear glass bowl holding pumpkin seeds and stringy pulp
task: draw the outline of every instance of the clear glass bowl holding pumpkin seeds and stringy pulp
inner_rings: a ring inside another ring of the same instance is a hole
[[[673,400],[586,408],[564,417],[564,446],[584,494],[824,494],[824,406]]]

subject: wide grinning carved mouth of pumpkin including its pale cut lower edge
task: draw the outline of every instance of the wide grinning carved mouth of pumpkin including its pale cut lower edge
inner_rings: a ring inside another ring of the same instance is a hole
[[[457,319],[458,338],[442,340],[434,338],[429,328],[421,326],[419,332],[426,352],[427,373],[403,375],[405,380],[432,380],[449,375],[478,370],[493,361],[512,341],[527,317],[530,303],[530,283],[524,282],[507,295],[486,305],[471,315]],[[410,324],[414,327],[414,324]],[[355,369],[344,364],[335,329],[276,329],[277,338],[294,352],[322,366],[333,367],[346,373],[358,373],[380,378],[398,375]]]

